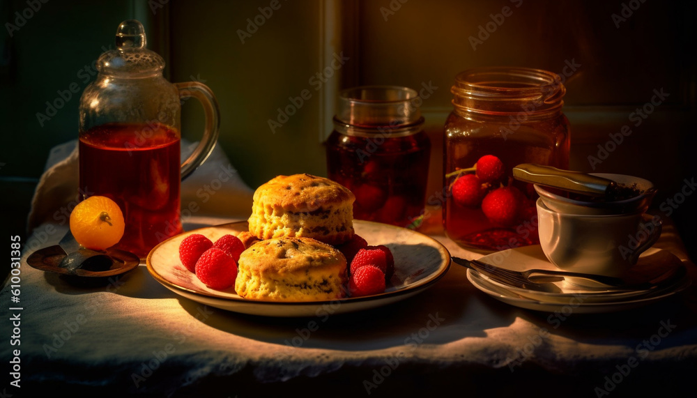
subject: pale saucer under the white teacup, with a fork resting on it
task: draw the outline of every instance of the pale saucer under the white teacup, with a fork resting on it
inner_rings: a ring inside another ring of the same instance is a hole
[[[480,261],[516,271],[531,268],[556,269],[544,257],[539,245],[496,252],[482,257]],[[546,291],[530,291],[498,282],[475,270],[468,269],[467,277],[477,289],[517,307],[554,312],[572,305],[574,311],[579,313],[613,312],[647,305],[682,291],[691,283],[680,259],[671,252],[659,249],[644,252],[625,277],[632,284],[654,281],[658,277],[659,281],[641,290],[618,291],[564,280],[546,284],[549,286]]]

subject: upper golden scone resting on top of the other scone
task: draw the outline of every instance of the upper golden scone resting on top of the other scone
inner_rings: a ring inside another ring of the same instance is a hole
[[[353,201],[348,188],[328,178],[277,176],[254,192],[250,233],[259,239],[298,236],[341,245],[353,237]]]

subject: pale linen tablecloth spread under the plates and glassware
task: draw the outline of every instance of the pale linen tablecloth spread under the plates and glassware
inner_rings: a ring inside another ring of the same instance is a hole
[[[56,244],[67,230],[67,223],[53,215],[74,200],[77,159],[68,155],[70,148],[56,153],[63,159],[49,162],[31,214],[31,224],[38,227],[23,245],[21,303],[10,303],[9,281],[0,293],[3,337],[12,334],[8,319],[17,313],[8,307],[23,307],[21,345],[11,346],[7,339],[0,344],[5,364],[13,349],[21,350],[22,388],[10,386],[10,378],[0,392],[6,388],[32,396],[51,388],[54,396],[71,397],[355,397],[457,389],[468,396],[595,397],[605,396],[602,391],[612,396],[664,395],[666,388],[678,395],[694,391],[694,286],[624,312],[574,314],[569,307],[553,314],[500,303],[477,290],[466,270],[453,264],[434,286],[399,303],[290,319],[195,303],[156,282],[142,263],[106,287],[71,286],[25,262],[33,250]],[[182,203],[200,200],[196,191],[227,164],[218,151],[185,181]],[[200,213],[185,220],[186,229],[246,219],[251,192],[233,178],[210,203],[201,204]],[[454,256],[481,256],[452,243],[437,223],[423,231]],[[32,242],[40,245],[32,249]],[[657,247],[680,257],[694,277],[694,264],[671,225]]]

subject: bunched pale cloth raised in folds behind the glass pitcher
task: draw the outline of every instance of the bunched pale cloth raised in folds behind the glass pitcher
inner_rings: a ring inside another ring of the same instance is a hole
[[[188,158],[198,142],[182,140],[181,158]],[[48,222],[63,224],[78,199],[77,139],[52,148],[44,174],[31,200],[27,230],[31,233]],[[252,209],[252,194],[220,146],[213,149],[181,184],[183,223],[200,217],[215,216],[233,220],[246,219]]]

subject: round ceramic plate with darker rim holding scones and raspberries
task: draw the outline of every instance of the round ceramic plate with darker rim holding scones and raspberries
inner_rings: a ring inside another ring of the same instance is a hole
[[[337,314],[388,305],[431,286],[450,267],[450,253],[429,236],[410,229],[361,220],[354,220],[353,227],[355,233],[365,238],[369,245],[390,247],[395,257],[395,275],[385,293],[302,303],[247,300],[235,293],[234,286],[224,291],[208,288],[181,264],[179,244],[190,234],[203,234],[215,241],[225,234],[236,235],[247,231],[247,222],[204,227],[174,236],[156,246],[148,254],[146,263],[155,280],[180,296],[220,309],[262,316],[316,316],[326,311]]]

